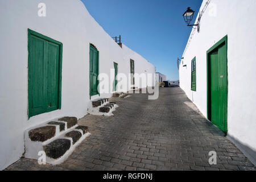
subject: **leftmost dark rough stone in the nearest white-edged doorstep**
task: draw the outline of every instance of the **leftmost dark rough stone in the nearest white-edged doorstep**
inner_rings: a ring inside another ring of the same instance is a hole
[[[44,142],[55,136],[55,126],[43,126],[37,129],[30,130],[28,136],[34,142]]]

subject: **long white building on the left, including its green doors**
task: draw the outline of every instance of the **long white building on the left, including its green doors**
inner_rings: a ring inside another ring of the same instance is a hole
[[[81,1],[41,2],[0,1],[0,169],[23,155],[26,129],[58,117],[82,118],[91,100],[111,97],[95,90],[99,73],[155,73],[141,55],[118,46]],[[44,84],[47,90],[38,89]]]

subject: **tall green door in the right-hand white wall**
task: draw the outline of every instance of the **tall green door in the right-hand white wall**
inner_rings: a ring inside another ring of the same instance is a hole
[[[226,44],[209,53],[210,65],[210,121],[227,132],[228,79]]]

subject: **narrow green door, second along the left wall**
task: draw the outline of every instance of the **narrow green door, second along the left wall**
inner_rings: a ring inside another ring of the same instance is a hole
[[[90,96],[98,94],[98,51],[90,45]]]

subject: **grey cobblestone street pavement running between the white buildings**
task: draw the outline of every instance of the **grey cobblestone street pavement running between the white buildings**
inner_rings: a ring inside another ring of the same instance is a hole
[[[7,170],[255,170],[224,134],[208,122],[180,88],[112,98],[114,117],[86,115],[86,138],[63,164],[39,165],[20,159]],[[209,151],[217,152],[210,166]]]

